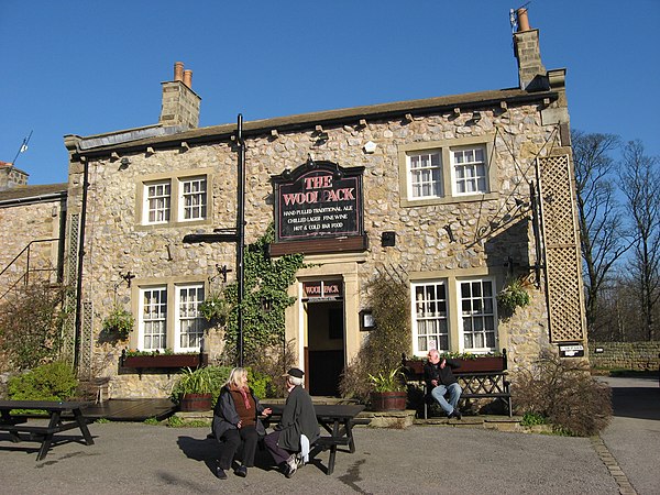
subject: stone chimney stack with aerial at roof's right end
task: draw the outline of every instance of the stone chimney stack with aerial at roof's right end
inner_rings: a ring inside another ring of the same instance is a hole
[[[518,31],[514,33],[514,53],[518,59],[520,89],[540,91],[549,89],[547,70],[541,62],[539,30],[529,26],[527,9],[516,11]]]

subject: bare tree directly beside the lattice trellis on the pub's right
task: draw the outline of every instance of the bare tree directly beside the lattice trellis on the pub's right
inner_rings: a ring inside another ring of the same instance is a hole
[[[617,260],[630,249],[624,229],[620,206],[616,200],[615,168],[609,156],[619,147],[613,134],[571,133],[578,215],[586,293],[586,324],[594,333],[600,294]]]

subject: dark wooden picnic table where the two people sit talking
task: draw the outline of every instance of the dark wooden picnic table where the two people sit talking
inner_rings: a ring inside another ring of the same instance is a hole
[[[282,416],[284,404],[264,404],[264,407],[273,409],[272,417]],[[355,439],[353,438],[353,425],[355,417],[364,410],[361,404],[315,404],[314,406],[317,421],[329,435],[321,437],[312,444],[310,457],[322,450],[330,450],[328,461],[328,471],[326,474],[332,474],[334,471],[334,458],[339,446],[348,446],[349,452],[355,452]]]

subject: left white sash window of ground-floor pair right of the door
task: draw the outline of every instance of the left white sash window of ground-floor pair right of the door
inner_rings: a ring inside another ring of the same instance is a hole
[[[441,297],[443,293],[444,298]],[[413,353],[427,353],[431,349],[451,349],[449,286],[446,279],[429,279],[410,284]],[[419,297],[421,296],[421,298]],[[430,296],[430,297],[427,297]],[[433,332],[428,328],[435,327]],[[422,330],[424,329],[424,330]],[[425,343],[420,345],[420,340]],[[424,348],[427,349],[424,349]]]

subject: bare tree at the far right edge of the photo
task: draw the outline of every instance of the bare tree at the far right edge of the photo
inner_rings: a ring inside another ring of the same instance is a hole
[[[630,141],[624,150],[620,179],[635,230],[628,273],[635,280],[646,336],[654,340],[660,299],[660,160],[645,155],[639,140]]]

